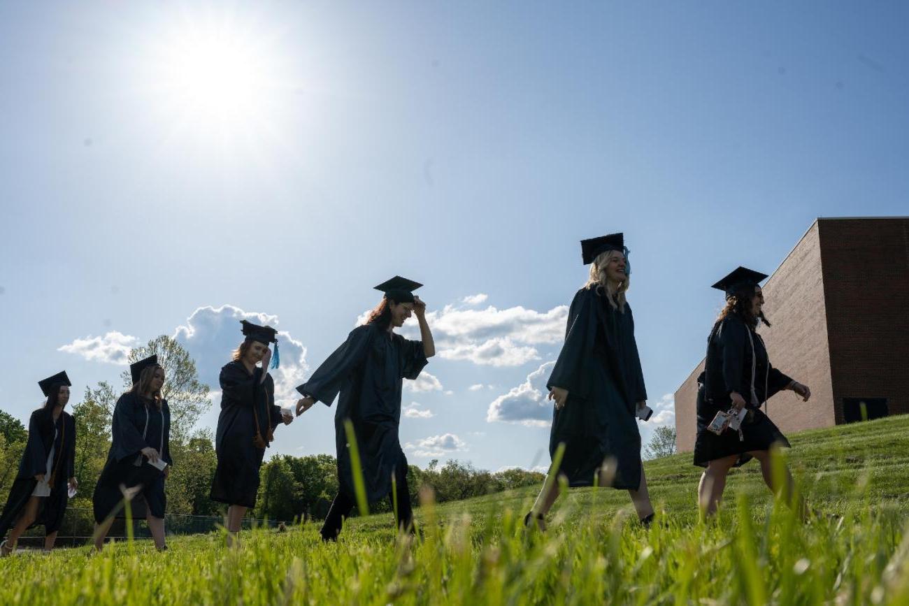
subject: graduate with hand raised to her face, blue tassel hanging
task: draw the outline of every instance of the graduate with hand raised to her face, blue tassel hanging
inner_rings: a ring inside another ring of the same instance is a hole
[[[241,321],[246,337],[236,348],[233,360],[221,369],[221,413],[215,434],[217,469],[211,498],[227,508],[228,542],[240,531],[243,516],[255,507],[259,490],[259,468],[265,448],[275,439],[275,427],[294,420],[291,412],[275,405],[275,382],[269,363],[280,363],[277,331]],[[268,349],[275,343],[275,353]],[[262,367],[257,364],[261,363]]]

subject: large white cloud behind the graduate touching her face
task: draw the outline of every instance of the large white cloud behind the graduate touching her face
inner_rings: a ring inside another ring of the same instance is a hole
[[[183,326],[176,328],[174,337],[195,360],[199,380],[213,389],[219,385],[221,367],[231,360],[231,353],[243,342],[240,321],[278,327],[278,317],[270,313],[245,312],[234,305],[199,307]],[[286,331],[278,331],[278,351],[281,364],[269,370],[275,380],[275,403],[291,406],[299,397],[295,387],[304,382],[309,370],[306,348]]]

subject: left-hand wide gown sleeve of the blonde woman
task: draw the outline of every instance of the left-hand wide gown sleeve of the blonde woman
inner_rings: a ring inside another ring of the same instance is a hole
[[[569,394],[586,398],[589,387],[584,381],[584,363],[594,349],[596,337],[596,293],[581,289],[574,295],[568,309],[568,323],[565,326],[565,341],[555,361],[553,373],[549,375],[546,388],[561,387]]]

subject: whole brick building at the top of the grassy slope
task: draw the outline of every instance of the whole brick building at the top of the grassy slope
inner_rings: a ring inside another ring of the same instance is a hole
[[[909,217],[817,219],[764,295],[770,362],[812,391],[767,402],[784,433],[909,412]],[[675,392],[680,452],[694,450],[703,370],[702,360]]]

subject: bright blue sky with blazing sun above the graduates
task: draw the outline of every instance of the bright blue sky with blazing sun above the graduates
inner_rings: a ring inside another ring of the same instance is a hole
[[[653,404],[702,356],[717,277],[769,273],[817,216],[906,214],[907,17],[4,3],[2,407],[27,419],[64,368],[76,396],[118,382],[124,348],[161,333],[215,381],[254,313],[296,343],[290,398],[399,273],[426,284],[441,345],[405,392],[411,462],[544,464],[579,240],[625,233]],[[275,452],[333,452],[332,414]]]

